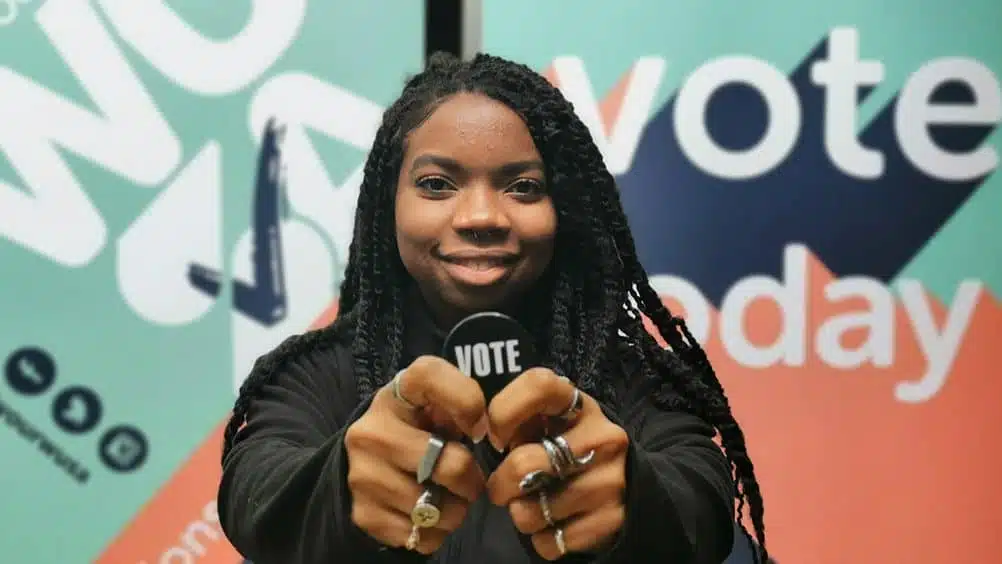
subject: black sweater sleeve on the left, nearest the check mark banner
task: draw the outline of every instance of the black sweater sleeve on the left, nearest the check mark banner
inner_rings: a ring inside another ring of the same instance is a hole
[[[354,371],[342,366],[350,358],[339,363],[329,347],[276,354],[252,372],[268,381],[223,461],[218,509],[226,537],[255,564],[410,562],[351,520],[343,437],[369,402],[358,401]]]

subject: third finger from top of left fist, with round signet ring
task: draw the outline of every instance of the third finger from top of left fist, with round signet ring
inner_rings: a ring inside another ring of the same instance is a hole
[[[378,457],[361,454],[357,459],[358,467],[362,470],[358,472],[358,476],[353,477],[353,468],[349,470],[348,477],[353,494],[362,492],[384,507],[394,509],[404,515],[410,515],[418,498],[426,488],[415,482],[414,477],[387,465]],[[441,492],[437,507],[441,516],[435,527],[445,531],[454,531],[463,524],[463,519],[466,518],[468,502],[445,490]]]

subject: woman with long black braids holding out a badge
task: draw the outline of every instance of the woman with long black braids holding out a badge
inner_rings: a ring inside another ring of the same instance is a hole
[[[225,431],[220,520],[257,564],[718,563],[735,496],[765,547],[723,390],[651,290],[587,129],[528,67],[437,55],[407,83],[340,300],[257,363]],[[545,359],[489,403],[436,357],[487,310]]]

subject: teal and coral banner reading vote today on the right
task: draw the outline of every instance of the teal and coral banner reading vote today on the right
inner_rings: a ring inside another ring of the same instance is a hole
[[[639,4],[485,3],[484,50],[591,129],[777,561],[997,561],[1002,5]]]

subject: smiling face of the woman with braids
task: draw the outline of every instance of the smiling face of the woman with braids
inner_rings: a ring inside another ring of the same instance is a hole
[[[397,245],[444,322],[500,310],[553,256],[556,211],[522,119],[489,97],[450,97],[408,136]]]

